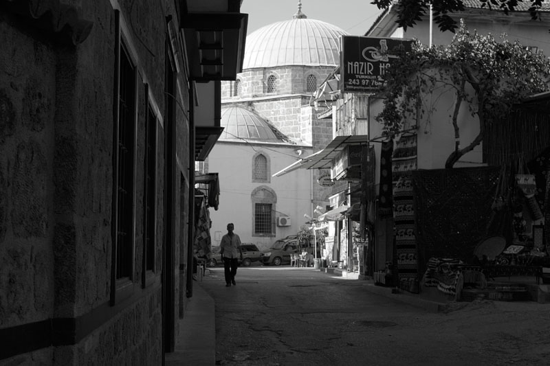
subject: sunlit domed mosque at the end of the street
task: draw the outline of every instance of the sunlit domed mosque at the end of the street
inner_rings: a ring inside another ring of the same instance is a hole
[[[219,173],[223,203],[210,213],[212,246],[234,222],[243,242],[268,248],[298,233],[307,221],[304,214],[314,216],[316,207],[329,205],[331,190],[318,183],[328,171],[272,175],[332,141],[332,119],[319,117],[311,95],[339,65],[340,36],[346,34],[307,18],[299,2],[292,19],[265,25],[246,38],[243,72],[221,84],[225,130],[206,161],[206,170]],[[272,131],[275,139],[251,133],[257,130]],[[263,179],[254,179],[255,174]]]

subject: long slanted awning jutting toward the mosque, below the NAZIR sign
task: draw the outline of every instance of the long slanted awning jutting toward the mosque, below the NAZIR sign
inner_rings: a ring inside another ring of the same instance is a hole
[[[336,136],[336,138],[323,150],[313,155],[309,155],[309,157],[305,157],[303,160],[292,163],[287,166],[287,168],[273,174],[273,176],[281,176],[296,169],[330,169],[333,159],[336,158],[344,148],[349,145],[366,144],[368,141],[369,137],[366,135]]]

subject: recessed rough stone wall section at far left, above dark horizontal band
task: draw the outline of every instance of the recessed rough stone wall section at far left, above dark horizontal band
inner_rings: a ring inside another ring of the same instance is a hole
[[[0,327],[9,328],[54,312],[56,49],[8,21],[0,34]]]

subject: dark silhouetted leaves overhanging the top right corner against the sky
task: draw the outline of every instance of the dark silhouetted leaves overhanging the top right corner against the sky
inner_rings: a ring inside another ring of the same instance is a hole
[[[514,12],[518,3],[524,3],[523,0],[478,0],[481,3],[481,8],[502,10],[505,14]],[[540,8],[542,8],[543,0],[526,0],[525,3],[530,3],[529,14],[531,19],[540,19]],[[453,12],[463,11],[465,9],[462,0],[373,0],[371,2],[377,5],[379,9],[386,9],[392,3],[397,5],[397,24],[403,27],[413,27],[417,21],[421,21],[423,16],[430,10],[432,4],[434,21],[442,32],[455,32],[459,24],[452,19],[450,14]]]

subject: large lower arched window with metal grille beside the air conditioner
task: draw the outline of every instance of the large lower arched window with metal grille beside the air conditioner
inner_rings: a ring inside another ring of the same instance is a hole
[[[252,191],[252,236],[275,236],[277,195],[267,185]]]

